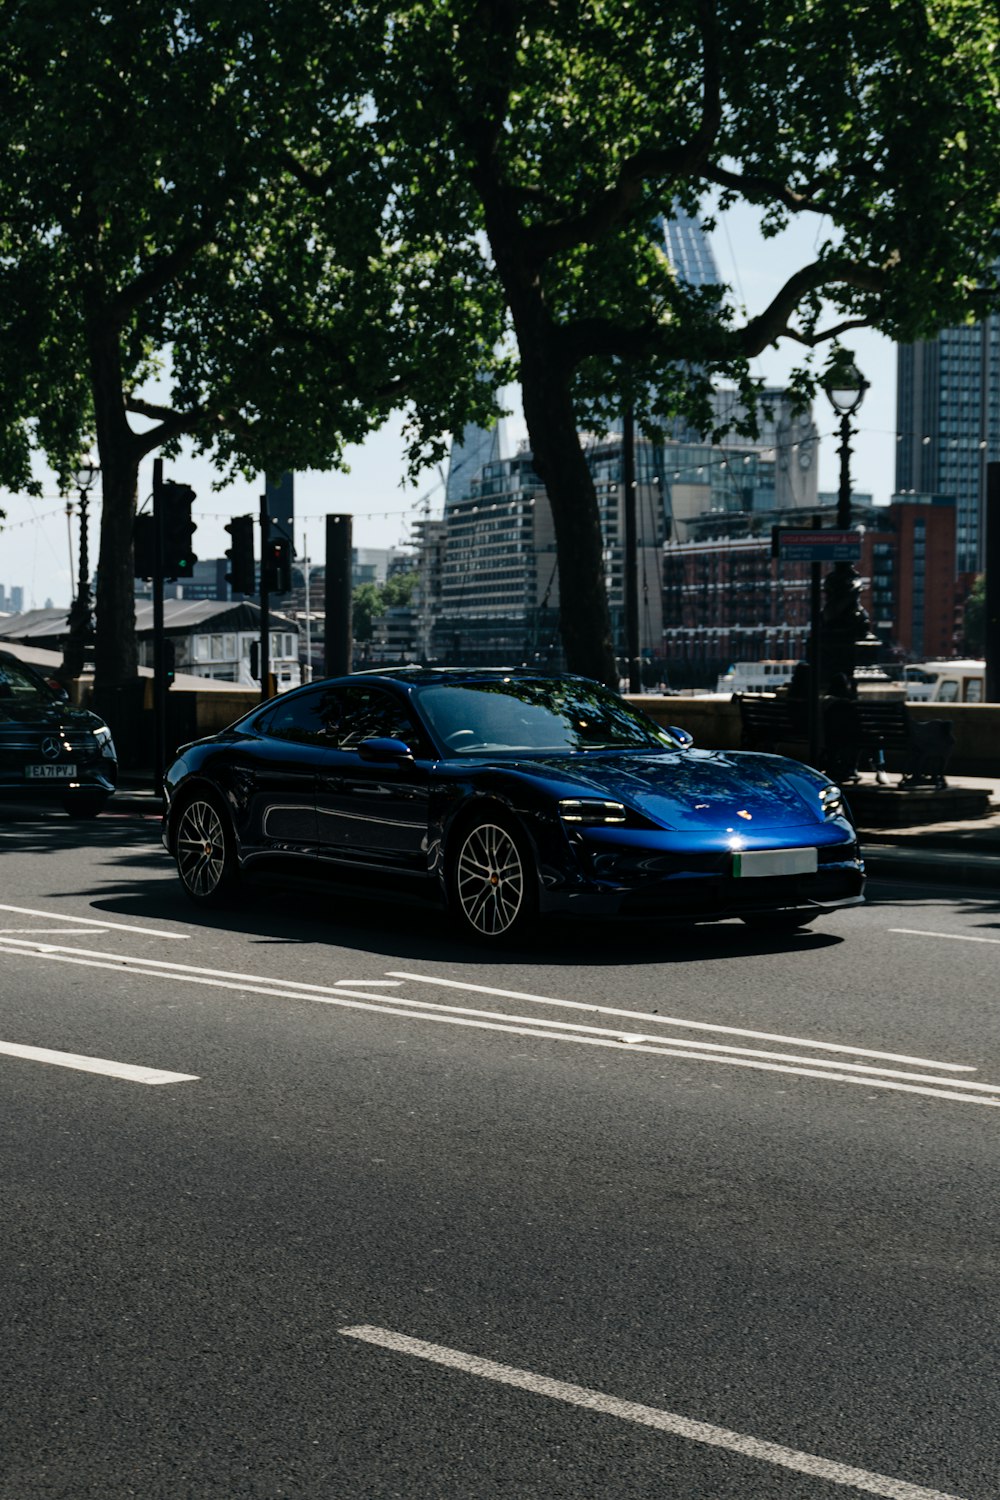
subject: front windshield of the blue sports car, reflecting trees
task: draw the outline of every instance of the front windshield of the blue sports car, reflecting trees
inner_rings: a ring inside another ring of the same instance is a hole
[[[417,700],[448,754],[678,748],[598,682],[502,678],[424,687]]]

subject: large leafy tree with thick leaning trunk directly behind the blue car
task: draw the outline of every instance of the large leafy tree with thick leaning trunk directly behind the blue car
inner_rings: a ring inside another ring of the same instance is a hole
[[[396,212],[490,250],[552,502],[571,668],[616,680],[582,428],[631,405],[712,428],[717,376],[852,328],[930,336],[997,306],[1000,18],[991,0],[412,0],[375,100]],[[658,213],[742,198],[816,252],[766,306],[687,285]],[[753,418],[751,418],[753,420]]]

